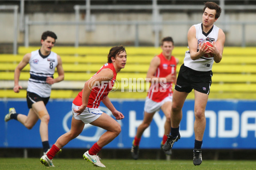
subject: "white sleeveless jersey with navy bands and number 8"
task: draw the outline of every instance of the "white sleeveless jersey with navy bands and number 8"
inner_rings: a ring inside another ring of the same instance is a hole
[[[44,57],[44,56],[43,56]],[[47,57],[41,57],[39,50],[32,51],[29,59],[30,78],[27,91],[38,94],[41,97],[49,97],[52,85],[46,83],[47,77],[53,77],[58,65],[57,54],[52,52]]]

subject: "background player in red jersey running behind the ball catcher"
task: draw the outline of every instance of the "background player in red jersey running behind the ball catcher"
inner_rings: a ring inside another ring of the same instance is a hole
[[[171,119],[170,112],[172,106],[172,83],[176,82],[176,65],[179,62],[172,56],[174,48],[172,37],[165,37],[161,44],[162,53],[155,56],[150,63],[147,79],[150,79],[151,86],[148,91],[148,96],[144,106],[144,119],[137,128],[136,136],[134,137],[133,145],[131,148],[131,156],[133,159],[139,157],[139,144],[144,130],[150,125],[154,113],[160,109],[166,116],[164,125],[163,141],[161,147],[167,140],[167,135],[170,133]],[[170,155],[170,151],[166,151]]]

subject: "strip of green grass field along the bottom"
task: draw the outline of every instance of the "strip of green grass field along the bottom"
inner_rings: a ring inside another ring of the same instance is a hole
[[[203,160],[200,166],[194,166],[192,160],[131,160],[104,159],[109,170],[256,170],[256,161]],[[55,167],[45,167],[39,158],[0,158],[0,170],[95,170],[93,164],[83,159],[54,159]],[[103,168],[104,169],[104,168]]]

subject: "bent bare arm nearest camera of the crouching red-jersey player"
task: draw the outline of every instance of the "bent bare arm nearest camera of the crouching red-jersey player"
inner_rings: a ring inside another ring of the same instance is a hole
[[[91,77],[87,82],[84,84],[83,93],[82,93],[82,105],[79,107],[78,110],[74,109],[75,113],[81,114],[84,109],[87,107],[88,100],[90,93],[92,91],[93,85],[101,84],[102,81],[109,81],[109,79],[113,78],[114,74],[110,68],[102,69],[98,74]],[[78,114],[78,115],[79,115]]]

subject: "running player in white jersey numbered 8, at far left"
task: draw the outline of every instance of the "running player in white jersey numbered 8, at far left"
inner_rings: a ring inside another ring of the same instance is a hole
[[[30,78],[27,87],[27,104],[29,108],[28,115],[16,113],[15,108],[10,108],[5,116],[5,121],[15,119],[22,123],[26,128],[32,129],[38,119],[40,123],[40,136],[43,144],[44,153],[50,149],[48,139],[49,113],[46,104],[49,101],[52,84],[64,79],[64,70],[62,68],[61,57],[52,52],[57,36],[52,31],[45,31],[41,36],[41,48],[37,51],[25,54],[23,59],[15,68],[14,72],[14,92],[19,93],[22,88],[19,85],[20,72],[29,64]],[[53,78],[57,68],[58,77]]]

